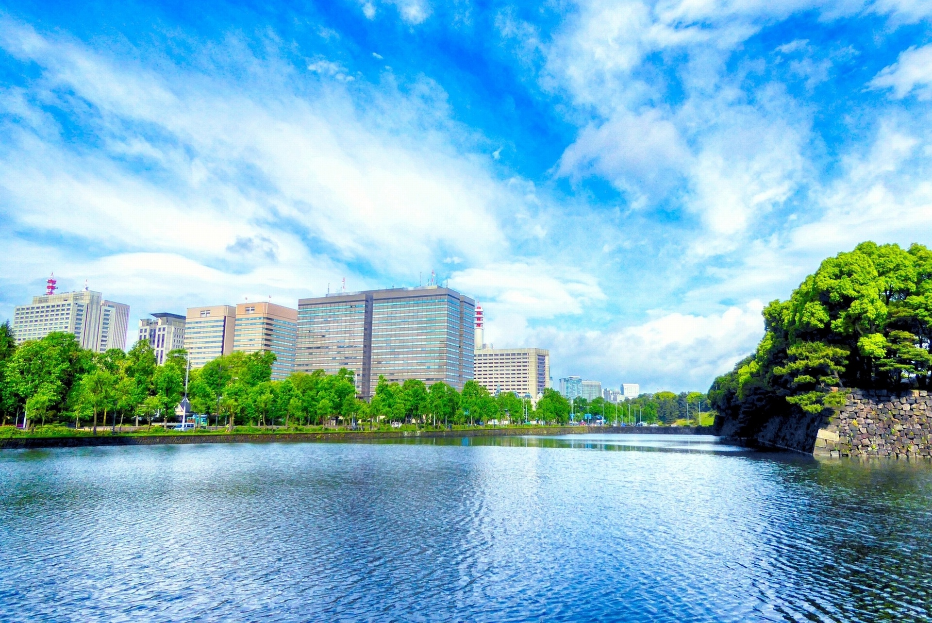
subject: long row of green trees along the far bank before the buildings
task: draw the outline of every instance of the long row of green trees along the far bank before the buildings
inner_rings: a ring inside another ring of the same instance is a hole
[[[3,424],[75,426],[170,422],[187,395],[207,422],[321,425],[354,422],[422,422],[432,425],[492,421],[565,423],[569,402],[547,390],[531,408],[511,393],[489,395],[467,381],[461,392],[443,383],[394,383],[380,378],[370,402],[356,397],[353,373],[295,372],[271,380],[274,353],[231,353],[188,370],[184,351],[158,366],[145,342],[128,353],[81,349],[75,336],[52,333],[17,347],[8,323],[0,325],[0,420]]]

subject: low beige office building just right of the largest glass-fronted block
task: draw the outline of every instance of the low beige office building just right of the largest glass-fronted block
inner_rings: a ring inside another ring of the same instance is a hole
[[[474,353],[473,378],[492,395],[514,392],[534,406],[550,379],[550,351],[539,348],[483,348]]]

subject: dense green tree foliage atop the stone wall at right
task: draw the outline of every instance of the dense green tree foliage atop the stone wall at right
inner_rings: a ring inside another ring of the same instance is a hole
[[[723,419],[816,414],[842,406],[846,389],[932,384],[932,252],[921,244],[862,242],[829,257],[763,317],[757,351],[709,390]]]

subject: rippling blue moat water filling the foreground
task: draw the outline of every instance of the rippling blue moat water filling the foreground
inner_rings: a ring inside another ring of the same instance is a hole
[[[932,620],[932,464],[696,436],[4,450],[2,621]]]

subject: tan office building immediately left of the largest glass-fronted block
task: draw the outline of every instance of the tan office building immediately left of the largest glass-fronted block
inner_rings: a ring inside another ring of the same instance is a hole
[[[240,303],[236,306],[233,350],[275,353],[272,379],[280,381],[295,371],[297,310],[274,303]]]

